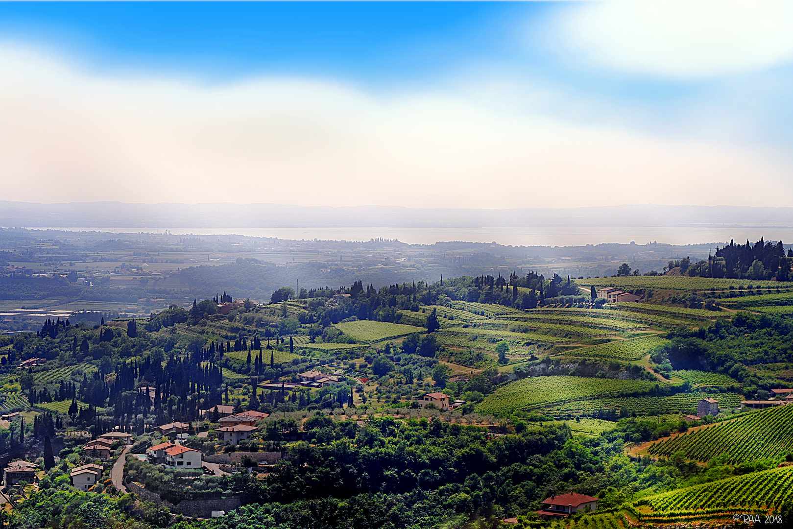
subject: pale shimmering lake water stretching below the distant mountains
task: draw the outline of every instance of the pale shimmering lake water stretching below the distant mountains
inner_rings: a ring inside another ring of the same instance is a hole
[[[140,228],[29,228],[57,229],[70,232],[137,233]],[[432,244],[438,241],[466,241],[474,243],[496,242],[511,246],[583,246],[598,243],[736,243],[760,240],[793,242],[793,226],[698,225],[685,227],[652,226],[559,226],[559,227],[488,227],[488,228],[144,228],[145,233],[172,235],[242,235],[252,237],[277,237],[289,240],[370,240],[397,239],[404,243]]]

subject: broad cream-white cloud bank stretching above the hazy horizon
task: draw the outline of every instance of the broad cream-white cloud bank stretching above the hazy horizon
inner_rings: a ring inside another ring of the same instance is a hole
[[[387,97],[316,79],[202,86],[10,45],[0,79],[4,200],[793,205],[774,155],[511,110],[475,82]],[[750,180],[775,193],[746,194]]]

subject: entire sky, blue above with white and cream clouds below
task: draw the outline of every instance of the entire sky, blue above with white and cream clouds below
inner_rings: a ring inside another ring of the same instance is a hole
[[[0,199],[793,206],[793,2],[0,2]]]

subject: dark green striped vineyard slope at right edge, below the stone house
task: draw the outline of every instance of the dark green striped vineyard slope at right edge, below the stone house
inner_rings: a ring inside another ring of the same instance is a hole
[[[665,439],[648,451],[654,455],[669,455],[680,450],[688,458],[699,461],[728,454],[734,463],[793,453],[793,406],[751,412],[714,427]]]

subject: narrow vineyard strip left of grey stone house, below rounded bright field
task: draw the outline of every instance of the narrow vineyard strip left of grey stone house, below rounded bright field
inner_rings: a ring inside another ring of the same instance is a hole
[[[601,409],[619,408],[623,415],[636,412],[639,416],[663,414],[693,414],[696,413],[697,403],[704,398],[714,398],[719,405],[726,408],[737,408],[743,397],[740,393],[707,393],[689,392],[676,393],[665,397],[604,397],[586,401],[573,401],[559,404],[544,410],[547,416],[588,416],[594,415]]]

